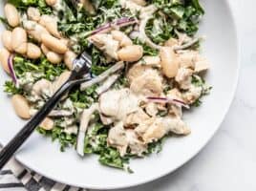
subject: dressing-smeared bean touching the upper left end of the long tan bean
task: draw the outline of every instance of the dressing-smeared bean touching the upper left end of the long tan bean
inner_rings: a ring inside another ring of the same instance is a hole
[[[49,34],[49,32],[41,25],[36,23],[35,21],[27,21],[23,24],[24,28],[27,30],[27,32],[37,40],[38,42],[42,41],[42,34]]]

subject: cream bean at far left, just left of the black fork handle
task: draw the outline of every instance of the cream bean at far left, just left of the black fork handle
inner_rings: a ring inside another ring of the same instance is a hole
[[[24,119],[31,118],[30,104],[24,96],[21,96],[21,95],[12,96],[11,103],[18,117],[21,117]]]

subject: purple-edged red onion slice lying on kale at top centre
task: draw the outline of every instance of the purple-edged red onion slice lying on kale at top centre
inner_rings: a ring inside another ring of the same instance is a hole
[[[111,23],[107,23],[105,25],[100,26],[99,28],[97,28],[95,31],[90,32],[88,35],[94,35],[96,33],[104,33],[104,32],[109,32],[109,30],[111,30],[113,27],[125,27],[128,25],[133,25],[135,23],[137,23],[138,20],[135,18],[129,18],[129,17],[123,17],[123,18],[119,18],[114,22]]]

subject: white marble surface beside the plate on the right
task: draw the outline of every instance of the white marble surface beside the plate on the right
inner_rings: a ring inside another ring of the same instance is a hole
[[[222,127],[196,158],[173,174],[119,191],[256,190],[256,1],[230,2],[239,28],[242,68]]]

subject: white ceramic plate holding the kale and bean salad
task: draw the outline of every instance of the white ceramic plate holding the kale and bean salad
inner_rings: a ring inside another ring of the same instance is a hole
[[[186,138],[169,138],[158,155],[134,159],[134,174],[101,166],[96,157],[80,159],[73,150],[59,151],[57,143],[32,135],[19,150],[16,159],[50,179],[75,186],[112,189],[156,180],[194,157],[219,128],[234,96],[239,71],[238,44],[234,20],[225,0],[202,0],[206,14],[201,34],[206,35],[203,53],[211,63],[206,80],[213,86],[203,105],[184,116],[192,134]],[[1,1],[0,7],[3,3]],[[3,30],[3,29],[1,29]],[[7,74],[0,72],[0,142],[6,144],[22,127],[24,121],[15,116],[8,96],[3,93]]]

